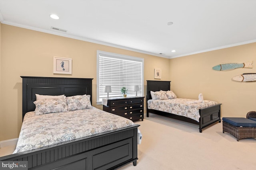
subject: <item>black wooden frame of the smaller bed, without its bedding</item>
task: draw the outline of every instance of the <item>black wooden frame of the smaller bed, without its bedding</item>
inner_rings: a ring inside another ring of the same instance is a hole
[[[188,117],[180,116],[180,115],[175,115],[172,113],[167,113],[164,111],[158,111],[154,109],[148,109],[148,100],[152,99],[150,91],[156,92],[156,91],[168,91],[170,90],[170,82],[171,81],[154,81],[154,80],[147,80],[147,97],[146,97],[146,105],[147,105],[147,117],[149,117],[149,113],[154,113],[157,115],[163,115],[166,117],[170,117],[173,119],[178,119],[181,121],[186,121],[189,123],[194,123],[199,125],[199,132],[202,133],[202,129],[204,127],[207,127],[215,122],[221,122],[220,118],[220,105],[221,104],[216,104],[214,106],[206,107],[199,109],[199,114],[200,114],[200,119],[199,122],[190,119]]]

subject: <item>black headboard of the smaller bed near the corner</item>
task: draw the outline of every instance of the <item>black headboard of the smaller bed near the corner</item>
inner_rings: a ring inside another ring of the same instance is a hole
[[[171,81],[155,81],[155,80],[147,80],[147,101],[152,99],[150,91],[168,91],[170,90],[170,82]]]

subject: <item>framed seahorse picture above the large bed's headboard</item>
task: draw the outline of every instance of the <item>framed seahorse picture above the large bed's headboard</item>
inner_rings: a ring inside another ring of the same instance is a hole
[[[72,74],[72,59],[64,57],[53,57],[53,73]]]

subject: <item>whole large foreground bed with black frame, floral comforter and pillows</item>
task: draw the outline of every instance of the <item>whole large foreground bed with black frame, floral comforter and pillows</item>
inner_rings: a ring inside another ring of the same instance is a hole
[[[42,170],[136,166],[139,125],[92,107],[91,78],[21,77],[20,137],[14,154],[0,160],[28,161],[28,169]],[[36,94],[65,97],[38,100]]]

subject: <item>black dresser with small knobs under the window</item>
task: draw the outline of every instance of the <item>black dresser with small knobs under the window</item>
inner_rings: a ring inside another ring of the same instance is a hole
[[[126,117],[132,121],[144,118],[144,97],[110,98],[103,110]]]

